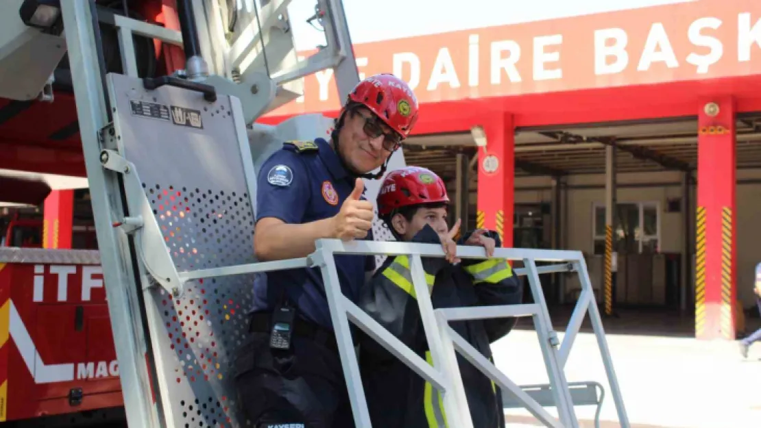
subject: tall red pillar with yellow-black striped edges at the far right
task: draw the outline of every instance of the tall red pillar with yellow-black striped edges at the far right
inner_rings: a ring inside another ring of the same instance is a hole
[[[735,339],[734,120],[731,97],[700,103],[695,275],[695,334],[699,339]]]

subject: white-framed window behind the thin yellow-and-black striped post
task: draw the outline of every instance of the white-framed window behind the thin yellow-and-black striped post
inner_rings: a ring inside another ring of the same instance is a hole
[[[659,252],[660,209],[658,202],[626,202],[616,205],[618,227],[613,232],[614,252],[642,254]],[[592,218],[594,254],[605,254],[605,204],[594,204]]]

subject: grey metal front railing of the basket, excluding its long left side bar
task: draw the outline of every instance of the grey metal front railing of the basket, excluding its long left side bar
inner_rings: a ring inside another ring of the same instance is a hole
[[[364,395],[361,392],[361,380],[359,379],[358,372],[355,369],[356,366],[356,359],[352,352],[349,352],[351,350],[352,341],[350,340],[350,333],[349,333],[349,324],[348,319],[352,319],[352,322],[355,322],[360,328],[362,328],[366,332],[372,332],[374,329],[380,328],[379,325],[374,324],[373,322],[368,322],[368,319],[363,317],[361,313],[361,309],[358,309],[355,305],[353,305],[349,300],[345,299],[345,297],[341,296],[338,291],[330,291],[334,287],[339,287],[338,285],[338,279],[337,275],[335,273],[335,265],[333,262],[333,255],[335,254],[368,254],[368,255],[377,255],[377,254],[391,254],[391,255],[412,255],[412,275],[413,280],[416,282],[416,292],[420,293],[423,292],[423,296],[427,296],[428,293],[425,293],[427,291],[427,286],[425,286],[425,280],[422,273],[422,263],[420,262],[421,256],[428,256],[428,257],[441,257],[443,256],[443,252],[441,252],[441,249],[438,246],[425,246],[425,245],[412,245],[412,249],[409,248],[411,246],[410,244],[405,243],[367,243],[367,242],[358,242],[358,243],[351,243],[351,244],[345,244],[342,242],[336,242],[330,239],[320,240],[317,242],[317,252],[315,260],[317,260],[318,264],[323,268],[323,277],[325,278],[326,283],[326,291],[329,295],[330,299],[330,305],[331,305],[331,314],[333,315],[333,323],[334,328],[336,328],[336,334],[339,337],[339,347],[345,347],[345,352],[342,353],[342,361],[344,363],[344,370],[347,378],[347,383],[349,384],[349,387],[353,389],[353,391],[350,391],[350,395],[352,398],[352,407],[355,409],[355,412],[364,412],[366,409],[364,408]],[[466,258],[484,258],[484,253],[482,249],[474,249],[474,248],[468,248],[468,247],[459,247],[457,254],[461,257]],[[541,289],[541,284],[539,281],[538,275],[540,273],[548,273],[553,271],[569,271],[569,270],[576,270],[579,271],[580,274],[585,275],[586,269],[584,265],[584,258],[583,255],[581,255],[581,252],[568,252],[568,251],[557,251],[557,250],[533,250],[533,249],[498,249],[495,252],[494,255],[495,258],[507,258],[508,260],[523,260],[525,268],[517,269],[517,274],[525,274],[529,278],[530,287],[534,296],[534,300],[537,303],[533,303],[531,305],[514,305],[514,306],[490,306],[490,307],[479,307],[479,308],[454,308],[454,309],[437,309],[434,311],[432,309],[432,306],[430,306],[430,300],[428,299],[422,299],[419,300],[419,308],[422,312],[422,316],[424,319],[424,327],[426,331],[426,335],[428,338],[431,336],[436,336],[437,334],[441,336],[441,339],[439,341],[439,344],[437,345],[439,347],[438,352],[441,352],[442,355],[440,355],[439,360],[435,361],[435,367],[443,368],[444,369],[444,380],[448,381],[450,388],[453,388],[451,392],[453,394],[450,394],[451,397],[456,398],[458,395],[461,394],[461,388],[462,383],[461,379],[459,379],[459,373],[457,372],[457,366],[456,366],[456,360],[454,356],[454,350],[456,349],[458,352],[463,354],[463,357],[466,357],[471,361],[471,363],[474,363],[481,371],[482,373],[485,373],[486,376],[489,376],[490,379],[497,382],[501,388],[506,388],[511,390],[511,392],[514,392],[515,395],[519,398],[520,401],[523,402],[523,404],[529,409],[535,416],[537,416],[540,420],[543,421],[547,426],[566,426],[566,427],[576,427],[578,426],[578,420],[575,417],[575,413],[573,411],[573,403],[570,396],[570,392],[568,390],[568,383],[565,380],[565,374],[563,372],[562,367],[565,365],[565,360],[567,359],[567,351],[565,353],[564,357],[561,357],[559,355],[559,351],[556,349],[556,346],[559,344],[557,341],[557,337],[555,332],[552,330],[552,324],[549,322],[549,311],[546,308],[546,303],[544,301],[543,292]],[[562,261],[568,261],[571,262],[574,268],[569,269],[568,263],[564,263],[562,265],[552,265],[552,266],[543,266],[542,268],[537,268],[535,261],[555,261],[555,262],[562,262]],[[582,284],[584,284],[584,291],[587,293],[585,296],[589,296],[586,299],[579,302],[575,315],[578,314],[578,312],[585,312],[587,310],[587,307],[594,306],[591,303],[594,303],[594,296],[591,296],[591,284],[588,281],[588,278],[582,278]],[[420,288],[420,290],[418,290]],[[336,289],[340,290],[340,288]],[[420,294],[419,294],[420,295]],[[588,299],[592,300],[588,300]],[[438,328],[438,331],[435,332],[435,334],[431,334],[431,323],[425,322],[425,313],[428,312],[428,315],[433,315],[435,313],[436,317],[436,325],[434,328]],[[607,342],[604,338],[604,332],[602,331],[602,325],[601,321],[599,319],[599,314],[597,314],[597,317],[595,317],[594,312],[591,311],[591,319],[593,322],[593,327],[595,330],[595,334],[597,335],[597,341],[600,345],[600,352],[603,353],[603,364],[607,371],[607,377],[610,382],[612,392],[614,395],[615,401],[616,401],[616,409],[619,413],[619,421],[622,423],[622,426],[628,427],[629,421],[628,417],[626,416],[626,410],[623,406],[623,402],[620,396],[620,391],[618,387],[618,381],[616,379],[616,374],[613,369],[613,363],[610,359],[610,353],[607,349]],[[349,317],[342,315],[342,314],[348,314]],[[463,340],[459,335],[457,335],[451,328],[448,327],[447,322],[451,321],[452,319],[484,319],[484,318],[499,318],[499,317],[505,317],[505,316],[525,316],[525,315],[532,315],[534,319],[534,323],[537,326],[537,333],[540,335],[540,347],[542,347],[543,355],[545,364],[547,367],[547,371],[552,383],[552,389],[553,389],[553,395],[555,395],[555,401],[556,406],[559,407],[559,413],[561,418],[561,423],[557,424],[552,417],[549,416],[549,414],[541,408],[541,406],[533,400],[533,398],[530,398],[528,395],[526,395],[524,392],[521,391],[521,388],[514,384],[514,382],[511,382],[507,376],[503,375],[496,369],[493,363],[486,360],[486,358],[483,358],[480,353],[478,353],[473,347],[470,346],[466,341]],[[371,321],[371,320],[370,320]],[[362,323],[365,323],[365,325],[362,325]],[[580,325],[580,323],[579,323]],[[382,328],[380,328],[382,330]],[[570,325],[568,328],[568,333],[566,334],[566,337],[564,338],[563,344],[567,344],[563,349],[570,350],[570,347],[572,346],[573,339],[575,338],[575,334],[578,333],[578,325]],[[378,339],[383,339],[378,334],[371,334],[371,336],[378,341]],[[379,341],[381,344],[384,344],[382,341]],[[387,344],[384,344],[387,349],[389,347]],[[435,351],[434,347],[431,347],[431,353]],[[394,353],[397,355],[397,353]],[[398,357],[398,355],[397,355]],[[406,363],[410,368],[415,369],[413,365],[416,365],[419,362],[416,361],[410,361],[410,360],[403,360],[404,363]],[[347,367],[347,363],[348,366]],[[419,373],[419,370],[416,370],[416,372]],[[454,373],[455,376],[449,376],[447,377],[447,373]],[[451,379],[452,377],[456,377],[457,379]],[[430,380],[430,379],[428,379]],[[358,386],[359,384],[359,386]],[[460,391],[458,391],[460,389]],[[444,405],[447,411],[447,415],[454,414],[454,417],[457,418],[459,423],[463,423],[463,425],[458,426],[470,426],[470,417],[466,417],[467,420],[463,420],[463,414],[467,415],[466,412],[466,406],[463,407],[461,403],[458,403],[457,401],[447,401],[446,394],[447,392],[444,392],[445,398],[444,398]],[[560,407],[565,407],[564,409]],[[364,417],[364,415],[362,415]],[[359,418],[357,418],[359,419]],[[358,425],[358,426],[366,426],[366,425]],[[369,425],[367,425],[369,426]]]

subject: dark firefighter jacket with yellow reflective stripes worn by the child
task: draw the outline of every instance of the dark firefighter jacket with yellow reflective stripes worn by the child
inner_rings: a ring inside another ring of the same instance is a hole
[[[458,242],[463,245],[470,233]],[[497,233],[489,232],[500,246]],[[441,243],[426,226],[413,243]],[[463,259],[451,265],[444,258],[422,258],[434,308],[509,305],[521,303],[523,286],[504,259]],[[432,365],[431,353],[412,286],[409,258],[387,258],[361,292],[358,305],[406,346]],[[450,322],[451,327],[489,360],[489,344],[514,327],[517,319]],[[444,404],[431,383],[393,357],[377,341],[358,334],[362,383],[373,426],[384,428],[439,428],[447,426]],[[459,353],[460,366],[473,426],[505,426],[501,392]],[[493,361],[493,360],[492,360]],[[449,426],[449,428],[457,428]]]

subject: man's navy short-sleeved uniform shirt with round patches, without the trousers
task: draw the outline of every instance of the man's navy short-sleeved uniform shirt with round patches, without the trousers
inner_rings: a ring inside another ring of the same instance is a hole
[[[275,217],[289,224],[304,224],[338,214],[357,177],[344,169],[325,140],[317,138],[316,147],[308,144],[302,142],[300,148],[286,143],[263,164],[256,183],[256,221]],[[368,239],[372,239],[371,232]],[[374,268],[374,258],[336,255],[336,268],[344,296],[355,301],[365,283],[365,271]],[[333,329],[320,268],[267,273],[266,284],[255,286],[254,310],[271,310],[282,289],[304,319]]]

